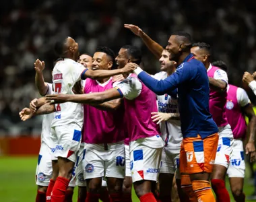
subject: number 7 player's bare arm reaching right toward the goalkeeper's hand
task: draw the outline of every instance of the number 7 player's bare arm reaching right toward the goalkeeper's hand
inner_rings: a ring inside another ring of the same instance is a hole
[[[133,65],[131,63],[128,63],[123,67],[122,69],[114,69],[114,70],[91,70],[91,69],[86,69],[83,71],[81,78],[86,79],[105,79],[114,75],[119,75],[119,74],[124,74],[124,73],[131,73],[137,65]]]

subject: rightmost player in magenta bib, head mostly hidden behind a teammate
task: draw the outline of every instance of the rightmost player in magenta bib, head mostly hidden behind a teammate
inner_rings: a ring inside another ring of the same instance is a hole
[[[216,67],[227,71],[227,66],[223,61],[212,63]],[[228,96],[226,100],[226,116],[228,123],[231,125],[234,135],[234,147],[230,156],[228,166],[228,178],[234,200],[237,202],[245,201],[243,193],[243,184],[245,178],[245,157],[243,149],[243,139],[246,137],[247,125],[245,116],[249,118],[249,141],[245,146],[246,154],[249,155],[249,160],[255,160],[255,132],[256,132],[256,116],[253,111],[253,106],[243,88],[228,84]]]

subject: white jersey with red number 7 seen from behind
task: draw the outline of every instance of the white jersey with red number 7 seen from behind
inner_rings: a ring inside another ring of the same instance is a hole
[[[53,69],[53,90],[55,94],[73,94],[72,88],[81,79],[84,66],[71,59],[56,63]],[[65,102],[55,104],[56,112],[52,127],[77,123],[83,125],[84,114],[82,104]]]

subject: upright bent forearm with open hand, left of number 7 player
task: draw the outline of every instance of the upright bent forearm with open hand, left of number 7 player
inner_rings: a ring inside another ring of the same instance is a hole
[[[42,75],[42,71],[44,70],[44,61],[40,61],[37,59],[34,62],[34,69],[36,70],[35,83],[36,88],[41,96],[45,96],[48,91],[48,85],[44,82],[44,76]]]

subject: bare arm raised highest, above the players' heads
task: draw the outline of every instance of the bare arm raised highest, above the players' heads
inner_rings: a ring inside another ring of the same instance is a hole
[[[139,36],[157,59],[160,59],[160,57],[162,57],[162,50],[164,50],[164,48],[160,44],[152,40],[152,38],[150,38],[150,36],[143,32],[141,28],[133,24],[125,24],[125,28],[131,30],[131,32]]]

